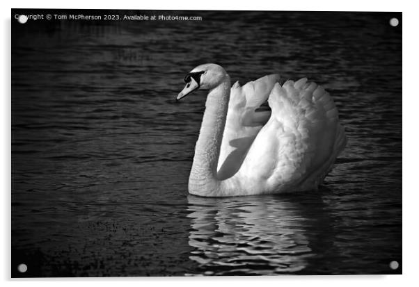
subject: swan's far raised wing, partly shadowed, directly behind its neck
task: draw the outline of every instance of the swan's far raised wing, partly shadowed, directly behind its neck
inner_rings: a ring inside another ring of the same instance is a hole
[[[271,74],[244,86],[238,82],[232,86],[217,169],[219,179],[231,177],[239,170],[255,136],[269,120],[270,111],[256,109],[267,101],[279,78],[278,74]]]

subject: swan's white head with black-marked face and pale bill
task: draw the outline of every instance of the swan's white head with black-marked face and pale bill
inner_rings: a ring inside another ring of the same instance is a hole
[[[220,65],[203,64],[191,70],[185,77],[184,82],[187,83],[176,97],[176,101],[189,95],[194,90],[211,90],[226,79],[227,73]]]

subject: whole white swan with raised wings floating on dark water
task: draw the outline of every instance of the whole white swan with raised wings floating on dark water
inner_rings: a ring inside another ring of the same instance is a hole
[[[306,78],[270,74],[241,86],[216,64],[185,76],[176,101],[210,90],[189,175],[202,197],[317,190],[345,148],[345,129],[329,93]],[[270,111],[260,108],[268,101]]]

